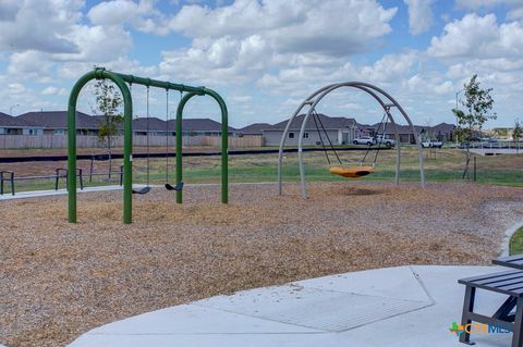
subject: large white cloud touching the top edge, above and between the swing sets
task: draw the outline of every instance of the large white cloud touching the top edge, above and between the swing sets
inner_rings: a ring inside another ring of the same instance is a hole
[[[230,36],[243,40],[259,35],[278,52],[340,55],[358,52],[368,40],[389,34],[396,12],[374,0],[236,0],[217,9],[185,5],[170,27],[195,39]]]

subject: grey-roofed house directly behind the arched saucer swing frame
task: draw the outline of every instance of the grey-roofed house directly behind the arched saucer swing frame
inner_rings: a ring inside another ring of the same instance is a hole
[[[296,146],[300,136],[300,129],[305,114],[297,115],[291,123],[287,135],[285,145]],[[316,122],[315,122],[316,120]],[[278,146],[281,136],[289,121],[277,123],[262,129],[266,146]],[[319,128],[319,134],[318,134]],[[328,116],[318,114],[317,119],[309,116],[305,124],[303,134],[303,145],[320,145],[321,140],[328,145],[329,139],[332,145],[350,144],[357,136],[358,124],[354,119],[343,116]],[[324,132],[325,129],[325,132]],[[327,134],[327,136],[326,136]]]

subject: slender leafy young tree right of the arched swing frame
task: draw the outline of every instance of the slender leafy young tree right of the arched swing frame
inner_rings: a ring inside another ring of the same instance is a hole
[[[467,142],[466,164],[463,172],[464,178],[471,160],[467,140],[471,139],[473,131],[481,132],[483,124],[488,120],[496,120],[497,115],[496,112],[492,112],[494,99],[490,96],[492,88],[482,89],[479,87],[479,82],[477,80],[477,75],[472,76],[471,80],[463,85],[463,90],[465,91],[465,98],[464,100],[461,100],[461,106],[464,111],[453,109],[452,112],[458,120],[458,128],[455,131],[457,136],[460,140],[465,140]]]

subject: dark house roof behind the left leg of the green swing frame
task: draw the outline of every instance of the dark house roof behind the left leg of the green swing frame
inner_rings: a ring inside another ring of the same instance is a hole
[[[27,112],[16,116],[33,126],[47,128],[68,128],[68,111],[41,111]],[[76,128],[97,129],[99,128],[99,116],[90,116],[83,112],[76,112]]]

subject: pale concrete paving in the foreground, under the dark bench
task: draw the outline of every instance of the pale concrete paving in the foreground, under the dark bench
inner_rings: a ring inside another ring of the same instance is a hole
[[[494,267],[399,267],[217,296],[95,329],[73,347],[435,347],[460,346],[464,287],[458,278]],[[478,290],[490,312],[503,297]],[[478,346],[510,346],[511,334],[476,334]]]

